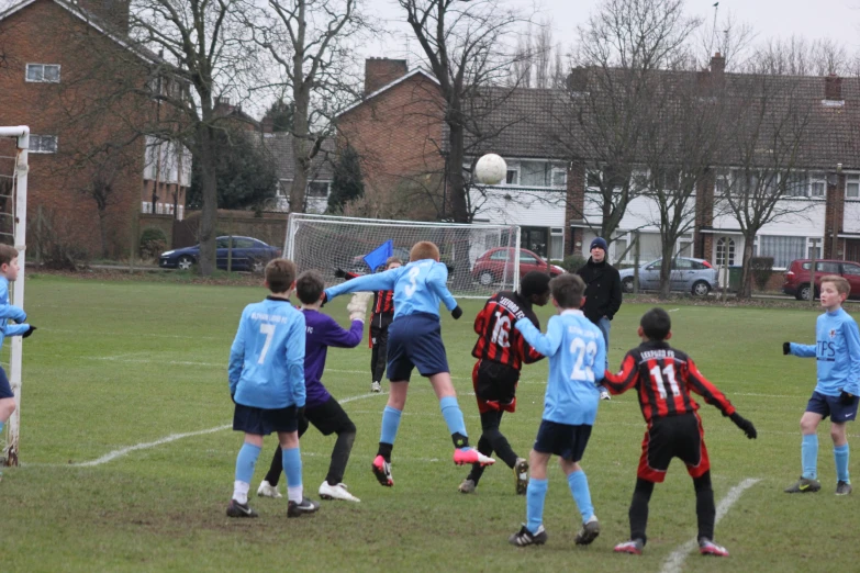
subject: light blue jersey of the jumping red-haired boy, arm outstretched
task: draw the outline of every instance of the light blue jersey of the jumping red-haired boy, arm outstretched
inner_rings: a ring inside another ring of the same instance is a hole
[[[366,274],[325,290],[328,300],[348,292],[394,291],[394,319],[415,313],[439,315],[439,301],[453,311],[457,301],[448,290],[448,267],[433,259]]]

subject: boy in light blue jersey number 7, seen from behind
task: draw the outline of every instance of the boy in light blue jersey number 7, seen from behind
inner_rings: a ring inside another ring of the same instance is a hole
[[[245,432],[236,458],[228,517],[257,517],[248,507],[254,465],[263,437],[278,432],[287,474],[287,517],[312,514],[320,504],[304,497],[299,452],[299,411],[304,408],[304,315],[290,304],[295,265],[273,259],[266,266],[271,294],[242,312],[230,349],[230,395],[236,404],[233,429]]]

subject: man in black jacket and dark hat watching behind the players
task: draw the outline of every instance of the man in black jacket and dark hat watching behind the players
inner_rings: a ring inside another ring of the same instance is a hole
[[[606,368],[610,364],[610,322],[621,308],[621,277],[618,270],[606,261],[606,241],[596,237],[591,241],[591,258],[577,274],[585,281],[585,304],[582,312],[597,325],[606,342]],[[601,400],[610,400],[610,393],[597,386]]]

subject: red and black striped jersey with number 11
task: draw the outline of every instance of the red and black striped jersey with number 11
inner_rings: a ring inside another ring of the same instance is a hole
[[[699,409],[690,395],[695,392],[724,415],[735,406],[699,371],[693,360],[664,341],[647,341],[624,357],[617,374],[606,372],[603,384],[613,394],[635,387],[645,422],[655,418],[689,414]]]

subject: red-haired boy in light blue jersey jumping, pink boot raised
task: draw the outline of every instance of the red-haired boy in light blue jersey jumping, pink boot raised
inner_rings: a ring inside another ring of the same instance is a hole
[[[416,243],[405,267],[367,274],[326,289],[325,300],[348,292],[394,291],[394,319],[388,334],[388,379],[391,381],[388,405],[382,413],[379,450],[371,469],[381,485],[391,487],[391,451],[400,428],[400,418],[406,404],[409,379],[413,368],[426,377],[439,398],[439,407],[454,440],[454,463],[495,462],[469,447],[462,412],[451,384],[448,359],[442,344],[439,301],[455,319],[462,310],[448,291],[448,269],[439,262],[439,249],[429,241]]]

